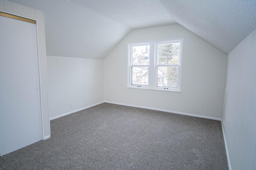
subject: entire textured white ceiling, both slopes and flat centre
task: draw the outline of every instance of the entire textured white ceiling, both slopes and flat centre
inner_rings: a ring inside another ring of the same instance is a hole
[[[256,29],[255,0],[10,0],[44,11],[47,55],[104,59],[133,29],[179,23],[228,54]]]

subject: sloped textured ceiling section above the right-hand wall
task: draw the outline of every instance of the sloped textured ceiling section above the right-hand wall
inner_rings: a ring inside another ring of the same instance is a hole
[[[228,54],[256,29],[256,0],[160,0],[170,16]]]

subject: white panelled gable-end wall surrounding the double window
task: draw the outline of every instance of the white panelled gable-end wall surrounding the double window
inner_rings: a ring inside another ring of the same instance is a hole
[[[181,92],[126,88],[127,43],[184,38]],[[107,102],[190,113],[220,119],[226,55],[184,27],[174,24],[129,33],[104,59]]]

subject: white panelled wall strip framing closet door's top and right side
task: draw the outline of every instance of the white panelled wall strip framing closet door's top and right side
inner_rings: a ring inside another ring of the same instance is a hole
[[[0,11],[13,15],[22,16],[24,18],[34,19],[38,25],[38,42],[39,42],[39,59],[40,59],[40,76],[42,90],[42,115],[44,119],[43,136],[44,139],[50,137],[50,121],[48,112],[48,90],[47,90],[47,69],[46,69],[46,47],[44,33],[44,12],[34,10],[14,2],[0,0]]]

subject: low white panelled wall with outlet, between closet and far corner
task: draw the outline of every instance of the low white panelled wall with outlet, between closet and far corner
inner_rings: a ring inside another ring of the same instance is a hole
[[[47,56],[47,66],[50,119],[104,101],[103,60]]]

